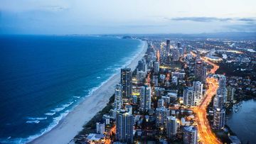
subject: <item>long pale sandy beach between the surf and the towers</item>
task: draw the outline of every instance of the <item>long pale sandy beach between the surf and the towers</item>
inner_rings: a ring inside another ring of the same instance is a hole
[[[138,61],[144,57],[146,49],[147,43],[143,41],[142,52],[140,52],[127,67],[134,70],[137,67]],[[119,80],[120,74],[114,74],[114,76],[105,84],[102,84],[99,89],[92,92],[91,96],[85,98],[73,111],[68,113],[55,128],[41,135],[39,138],[36,138],[31,143],[69,143],[78,132],[82,131],[82,126],[106,106],[110,96],[114,94],[114,86]]]

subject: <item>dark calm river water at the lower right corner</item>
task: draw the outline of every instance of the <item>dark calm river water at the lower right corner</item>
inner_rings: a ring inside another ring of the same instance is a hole
[[[227,124],[242,143],[256,143],[256,100],[242,101],[233,106]]]

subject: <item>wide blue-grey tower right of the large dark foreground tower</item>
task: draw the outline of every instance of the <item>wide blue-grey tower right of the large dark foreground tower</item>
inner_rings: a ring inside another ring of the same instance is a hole
[[[156,126],[166,126],[167,116],[170,116],[169,109],[156,108]]]

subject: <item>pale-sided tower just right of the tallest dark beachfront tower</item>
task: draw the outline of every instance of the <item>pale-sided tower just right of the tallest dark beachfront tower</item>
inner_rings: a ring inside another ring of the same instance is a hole
[[[151,87],[149,86],[141,87],[139,109],[142,111],[151,109]]]

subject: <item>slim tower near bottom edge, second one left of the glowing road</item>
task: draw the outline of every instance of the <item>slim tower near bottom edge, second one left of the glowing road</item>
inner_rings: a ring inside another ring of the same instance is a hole
[[[178,123],[175,116],[168,116],[166,123],[166,134],[168,138],[174,138],[178,129]]]

